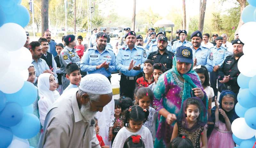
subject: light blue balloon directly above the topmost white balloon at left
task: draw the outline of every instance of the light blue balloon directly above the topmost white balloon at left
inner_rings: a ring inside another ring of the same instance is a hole
[[[26,7],[17,4],[16,12],[12,15],[6,14],[4,23],[16,23],[21,27],[26,27],[29,23],[29,12]]]

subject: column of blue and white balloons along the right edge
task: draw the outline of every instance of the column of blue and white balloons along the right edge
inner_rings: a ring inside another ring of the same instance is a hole
[[[247,0],[249,3],[242,12],[245,23],[239,29],[239,39],[244,43],[244,55],[238,60],[237,66],[241,74],[237,78],[240,86],[237,95],[238,103],[235,106],[236,114],[240,117],[233,121],[231,129],[233,140],[240,148],[251,148],[255,144],[256,134],[256,66],[253,55],[254,44],[250,35],[256,34],[256,1]]]

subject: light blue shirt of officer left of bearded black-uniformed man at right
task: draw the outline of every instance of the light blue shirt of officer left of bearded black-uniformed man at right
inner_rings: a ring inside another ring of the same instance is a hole
[[[220,48],[217,48],[217,46],[213,46],[211,48],[212,56],[213,56],[213,66],[221,66],[228,56],[228,49],[226,47],[220,46]]]

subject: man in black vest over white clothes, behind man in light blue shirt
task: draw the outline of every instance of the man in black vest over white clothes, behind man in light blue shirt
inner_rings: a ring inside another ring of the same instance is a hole
[[[56,64],[56,62],[54,60],[53,55],[50,52],[48,52],[49,43],[48,43],[46,38],[40,38],[38,40],[38,42],[42,46],[43,55],[41,56],[41,58],[46,61],[46,63],[49,66],[50,70],[52,70],[52,72],[54,73],[55,81],[57,82],[57,88],[59,88],[59,83],[58,83],[59,81],[58,81],[58,76],[57,76],[57,73],[56,73],[57,64]]]

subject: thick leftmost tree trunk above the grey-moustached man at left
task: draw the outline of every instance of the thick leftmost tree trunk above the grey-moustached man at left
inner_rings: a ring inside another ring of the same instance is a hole
[[[42,0],[41,1],[41,19],[42,19],[42,37],[44,35],[44,32],[49,30],[49,24],[48,24],[48,10],[49,10],[49,0]]]

